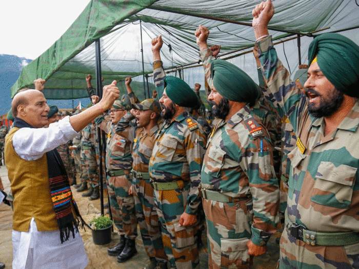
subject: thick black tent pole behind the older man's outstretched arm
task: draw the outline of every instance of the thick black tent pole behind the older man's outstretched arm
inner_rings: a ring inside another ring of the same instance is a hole
[[[96,94],[99,98],[102,98],[102,81],[101,81],[101,48],[99,43],[99,38],[95,43],[95,53],[96,53]],[[99,152],[99,195],[101,200],[101,215],[104,215],[104,179],[102,175],[102,139],[101,139],[101,129],[97,127],[97,141],[98,141],[98,152]]]

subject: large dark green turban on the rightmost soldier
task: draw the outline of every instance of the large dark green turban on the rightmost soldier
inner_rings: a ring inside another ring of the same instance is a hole
[[[344,94],[359,97],[359,46],[337,33],[325,33],[309,45],[309,66],[317,63],[328,80]]]

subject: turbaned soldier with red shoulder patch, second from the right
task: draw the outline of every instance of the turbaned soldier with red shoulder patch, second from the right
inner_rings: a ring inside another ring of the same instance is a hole
[[[209,54],[209,31],[195,32],[201,55]],[[253,116],[250,102],[260,93],[241,69],[224,61],[210,64],[208,100],[220,119],[207,142],[201,182],[207,220],[209,268],[250,268],[251,255],[266,252],[276,232],[279,188],[269,133]]]

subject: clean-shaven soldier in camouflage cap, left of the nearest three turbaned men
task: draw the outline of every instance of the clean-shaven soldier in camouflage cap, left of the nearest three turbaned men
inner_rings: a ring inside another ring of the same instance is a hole
[[[138,99],[130,87],[131,78],[126,78],[126,88],[130,96],[132,110],[117,123],[116,133],[127,138],[126,130],[130,122],[136,118],[135,138],[132,147],[132,193],[136,206],[136,217],[141,231],[142,240],[150,262],[146,269],[166,268],[167,255],[162,242],[161,223],[158,220],[154,204],[153,187],[148,173],[148,163],[151,157],[158,119],[161,116],[161,106],[154,99],[146,99],[138,104]],[[136,104],[137,103],[137,104]]]

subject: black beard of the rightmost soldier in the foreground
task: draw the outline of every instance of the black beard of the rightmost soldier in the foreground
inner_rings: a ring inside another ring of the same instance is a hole
[[[313,89],[308,89],[307,92],[318,94]],[[323,98],[321,98],[321,101],[317,108],[315,108],[313,104],[309,103],[308,111],[312,116],[316,118],[328,117],[332,115],[342,105],[343,100],[343,92],[334,88],[334,91],[332,92],[332,95],[329,96],[329,99],[324,100]]]

